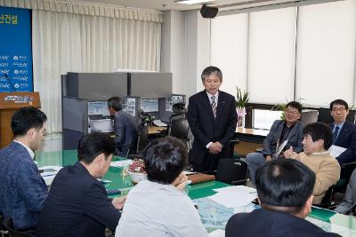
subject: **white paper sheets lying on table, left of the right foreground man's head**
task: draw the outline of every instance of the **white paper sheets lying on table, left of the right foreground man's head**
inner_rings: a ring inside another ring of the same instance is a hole
[[[244,207],[251,201],[255,200],[256,194],[249,194],[241,191],[219,192],[212,196],[207,197],[226,208],[239,208]]]

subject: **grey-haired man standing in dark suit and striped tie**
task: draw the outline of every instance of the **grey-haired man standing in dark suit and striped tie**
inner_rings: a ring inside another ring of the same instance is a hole
[[[191,96],[188,106],[188,122],[194,135],[190,162],[195,171],[216,170],[219,159],[228,157],[235,135],[235,98],[219,91],[223,73],[218,67],[206,67],[201,80],[205,90]]]

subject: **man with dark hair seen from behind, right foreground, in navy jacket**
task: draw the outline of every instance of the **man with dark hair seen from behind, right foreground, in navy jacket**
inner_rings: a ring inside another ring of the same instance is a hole
[[[226,237],[327,237],[317,225],[304,220],[312,210],[314,172],[295,160],[266,162],[256,171],[255,186],[262,209],[233,215]]]

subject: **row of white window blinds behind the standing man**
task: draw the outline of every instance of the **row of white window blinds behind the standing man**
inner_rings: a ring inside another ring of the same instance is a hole
[[[212,20],[211,61],[229,75],[225,84],[247,88],[250,102],[352,105],[355,35],[356,0],[222,16]]]

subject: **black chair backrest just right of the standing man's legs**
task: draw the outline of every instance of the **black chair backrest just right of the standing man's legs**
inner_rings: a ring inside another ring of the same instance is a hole
[[[234,158],[220,159],[216,180],[230,185],[245,185],[247,181],[247,162]]]

